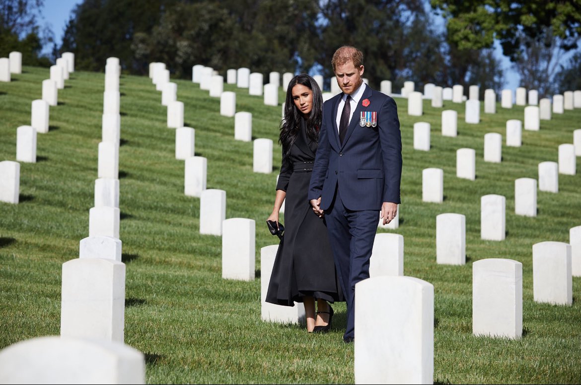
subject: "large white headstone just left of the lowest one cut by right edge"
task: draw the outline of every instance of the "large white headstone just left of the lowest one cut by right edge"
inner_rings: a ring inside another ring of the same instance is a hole
[[[565,242],[533,244],[533,298],[555,305],[573,303],[571,245]]]

